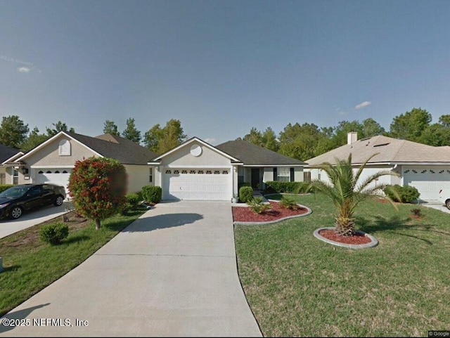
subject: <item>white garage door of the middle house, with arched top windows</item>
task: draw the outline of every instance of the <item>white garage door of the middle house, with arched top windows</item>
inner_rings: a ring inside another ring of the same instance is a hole
[[[165,169],[164,200],[231,200],[230,169]]]

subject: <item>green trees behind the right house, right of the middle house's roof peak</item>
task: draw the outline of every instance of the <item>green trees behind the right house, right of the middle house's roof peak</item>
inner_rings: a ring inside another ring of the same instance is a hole
[[[347,144],[349,131],[356,131],[359,139],[384,135],[428,145],[450,145],[450,115],[442,115],[438,123],[431,122],[432,117],[427,110],[413,108],[394,117],[390,131],[385,131],[378,122],[368,118],[362,122],[341,121],[338,126],[322,128],[310,123],[288,124],[278,137],[270,126],[264,131],[253,127],[249,134],[238,139],[302,161]]]

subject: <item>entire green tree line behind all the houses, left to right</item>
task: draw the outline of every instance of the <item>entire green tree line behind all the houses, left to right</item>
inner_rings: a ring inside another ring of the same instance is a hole
[[[28,125],[18,116],[11,115],[3,117],[1,121],[0,143],[28,151],[59,131],[75,132],[73,128],[58,121],[46,127],[46,133],[40,134],[36,126],[30,131]],[[319,127],[307,122],[289,123],[278,135],[270,126],[264,131],[253,127],[249,134],[238,139],[304,161],[345,145],[349,131],[356,131],[359,139],[385,135],[428,145],[450,145],[450,115],[442,115],[437,123],[432,124],[431,114],[427,110],[413,108],[409,112],[394,117],[389,131],[385,131],[374,119],[368,118],[362,122],[340,121],[337,126],[327,127]],[[155,124],[143,135],[136,128],[134,118],[127,119],[122,133],[114,121],[107,119],[103,126],[103,133],[122,136],[139,144],[143,143],[158,154],[174,148],[187,138],[178,119],[170,119],[165,126]]]

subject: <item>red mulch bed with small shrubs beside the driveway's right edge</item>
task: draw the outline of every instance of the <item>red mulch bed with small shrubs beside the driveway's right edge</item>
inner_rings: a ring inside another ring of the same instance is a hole
[[[277,202],[269,202],[271,209],[264,214],[255,214],[248,207],[233,207],[233,220],[237,222],[268,222],[283,219],[288,216],[306,214],[308,209],[299,207],[297,210],[290,210],[281,207]]]

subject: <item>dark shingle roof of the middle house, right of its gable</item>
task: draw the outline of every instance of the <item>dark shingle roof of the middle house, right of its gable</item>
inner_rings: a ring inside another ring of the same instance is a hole
[[[216,145],[216,148],[236,157],[244,165],[277,166],[277,165],[304,165],[306,163],[295,158],[281,155],[278,152],[259,147],[246,141],[228,141]]]

